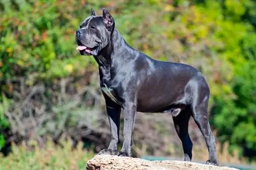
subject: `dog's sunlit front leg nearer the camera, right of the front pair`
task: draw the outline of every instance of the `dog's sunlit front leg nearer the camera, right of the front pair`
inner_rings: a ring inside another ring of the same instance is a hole
[[[134,129],[134,122],[136,117],[137,105],[133,102],[126,103],[123,106],[124,114],[124,126],[123,126],[123,145],[121,151],[118,152],[118,156],[131,157],[132,151],[132,135]]]

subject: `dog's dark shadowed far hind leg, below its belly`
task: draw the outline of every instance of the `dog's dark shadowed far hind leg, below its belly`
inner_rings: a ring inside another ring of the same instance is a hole
[[[191,112],[189,109],[184,109],[176,117],[173,116],[175,130],[182,142],[184,160],[191,161],[193,143],[188,134],[188,122]]]

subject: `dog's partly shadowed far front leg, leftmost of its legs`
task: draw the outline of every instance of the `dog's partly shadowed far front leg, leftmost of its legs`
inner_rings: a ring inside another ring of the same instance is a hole
[[[106,99],[106,112],[109,117],[111,141],[108,149],[101,150],[98,153],[99,155],[114,155],[117,151],[117,143],[119,141],[120,111],[121,107],[119,105],[113,101],[110,101],[109,99]]]

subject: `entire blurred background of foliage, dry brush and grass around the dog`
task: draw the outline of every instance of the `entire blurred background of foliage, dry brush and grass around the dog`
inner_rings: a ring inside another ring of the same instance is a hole
[[[256,1],[1,0],[1,169],[84,169],[108,146],[97,64],[80,56],[75,43],[90,9],[101,15],[103,7],[131,46],[202,71],[211,90],[210,125],[220,163],[253,164]],[[172,121],[137,114],[133,156],[183,159]],[[193,160],[205,161],[204,138],[193,119],[189,124]]]

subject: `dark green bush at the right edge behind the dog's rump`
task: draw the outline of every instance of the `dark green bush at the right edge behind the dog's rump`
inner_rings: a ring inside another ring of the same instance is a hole
[[[220,139],[230,141],[231,147],[244,146],[256,151],[256,63],[255,59],[249,61],[237,68],[238,75],[232,82],[236,98],[216,99],[212,123],[218,129]]]

